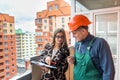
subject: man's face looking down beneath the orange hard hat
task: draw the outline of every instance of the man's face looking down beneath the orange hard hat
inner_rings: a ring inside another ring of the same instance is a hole
[[[78,41],[82,41],[84,38],[84,32],[83,32],[83,28],[79,28],[75,31],[72,31],[73,37],[75,38],[75,40]]]

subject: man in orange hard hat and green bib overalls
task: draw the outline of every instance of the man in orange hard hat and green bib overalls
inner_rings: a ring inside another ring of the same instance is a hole
[[[74,57],[67,60],[74,64],[74,80],[114,80],[114,63],[108,43],[88,32],[89,19],[75,15],[68,26],[76,40]]]

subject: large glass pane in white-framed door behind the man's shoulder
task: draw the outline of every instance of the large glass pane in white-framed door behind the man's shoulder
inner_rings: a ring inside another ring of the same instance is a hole
[[[103,37],[117,55],[117,13],[96,15],[96,36]]]

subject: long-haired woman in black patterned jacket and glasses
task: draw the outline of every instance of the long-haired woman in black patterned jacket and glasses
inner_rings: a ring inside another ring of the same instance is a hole
[[[65,31],[62,28],[55,30],[52,43],[46,44],[43,53],[40,56],[40,61],[57,69],[41,67],[43,75],[41,80],[66,80],[65,72],[68,68],[67,56],[69,49]]]

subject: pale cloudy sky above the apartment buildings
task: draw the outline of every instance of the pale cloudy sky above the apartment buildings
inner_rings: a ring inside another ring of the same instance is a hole
[[[14,16],[15,29],[35,32],[36,12],[47,9],[49,1],[54,0],[0,0],[0,13]]]

